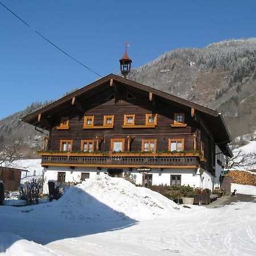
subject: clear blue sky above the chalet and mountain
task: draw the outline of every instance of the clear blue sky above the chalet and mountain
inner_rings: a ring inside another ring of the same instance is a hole
[[[255,37],[254,0],[0,0],[101,76],[119,71],[125,42],[133,68],[181,47]],[[0,119],[97,79],[0,5]]]

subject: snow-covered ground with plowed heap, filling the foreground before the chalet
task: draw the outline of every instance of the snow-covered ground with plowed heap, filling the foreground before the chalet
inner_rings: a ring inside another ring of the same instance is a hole
[[[253,186],[232,184],[256,195]],[[0,207],[0,255],[256,255],[256,204],[184,208],[98,176],[59,201]]]

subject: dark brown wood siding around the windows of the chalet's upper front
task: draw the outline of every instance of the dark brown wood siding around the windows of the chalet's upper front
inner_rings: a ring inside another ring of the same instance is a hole
[[[156,107],[148,97],[133,92],[136,99],[127,100],[126,91],[123,91],[119,100],[106,100],[110,92],[94,97],[87,102],[86,112],[82,115],[72,108],[65,116],[69,116],[69,129],[57,130],[55,127],[51,133],[51,150],[59,150],[61,139],[72,139],[72,151],[79,151],[81,148],[81,139],[95,139],[96,136],[104,138],[100,150],[110,150],[111,138],[125,138],[125,150],[127,150],[127,136],[134,137],[131,143],[130,151],[141,151],[142,139],[157,139],[158,151],[168,150],[168,139],[184,138],[184,150],[193,150],[193,133],[197,129],[197,123],[191,117],[191,113],[184,109],[177,108],[174,105],[159,102]],[[82,102],[86,104],[86,102]],[[123,128],[123,115],[135,114],[135,125],[145,125],[146,114],[157,114],[157,125],[155,128]],[[185,123],[187,127],[171,127],[174,123],[174,113],[185,113]],[[104,115],[114,115],[113,129],[83,129],[84,116],[93,115],[94,125],[103,125]],[[60,120],[60,116],[57,119]],[[94,146],[95,147],[95,146]],[[95,149],[95,148],[94,148]],[[200,150],[200,148],[198,148]]]

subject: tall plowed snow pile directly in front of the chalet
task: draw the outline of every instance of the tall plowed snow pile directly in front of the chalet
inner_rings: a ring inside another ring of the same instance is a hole
[[[55,202],[68,219],[115,221],[145,220],[177,212],[177,204],[147,188],[122,178],[100,175],[69,188]]]

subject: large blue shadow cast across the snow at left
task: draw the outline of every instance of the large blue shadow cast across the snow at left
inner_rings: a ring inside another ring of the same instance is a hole
[[[1,206],[0,232],[18,236],[0,241],[0,253],[22,238],[46,245],[65,238],[127,228],[137,222],[82,189],[72,187],[61,199],[51,203],[19,208]]]

